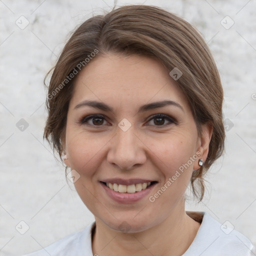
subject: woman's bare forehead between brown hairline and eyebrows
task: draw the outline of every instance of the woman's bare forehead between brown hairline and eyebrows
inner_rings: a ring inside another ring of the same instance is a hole
[[[108,53],[92,59],[78,74],[70,103],[86,98],[123,104],[164,98],[187,105],[169,71],[156,59],[138,55]]]

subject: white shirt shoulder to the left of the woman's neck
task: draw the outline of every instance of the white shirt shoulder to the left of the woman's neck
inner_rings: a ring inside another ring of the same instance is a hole
[[[93,228],[94,223],[95,222],[90,223],[82,230],[73,232],[40,250],[23,256],[92,256],[91,229]]]

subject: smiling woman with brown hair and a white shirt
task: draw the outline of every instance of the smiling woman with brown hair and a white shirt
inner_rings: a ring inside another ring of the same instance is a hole
[[[206,43],[176,15],[130,5],[83,22],[54,67],[44,137],[95,222],[29,255],[249,255],[184,208],[222,154],[222,100]]]

